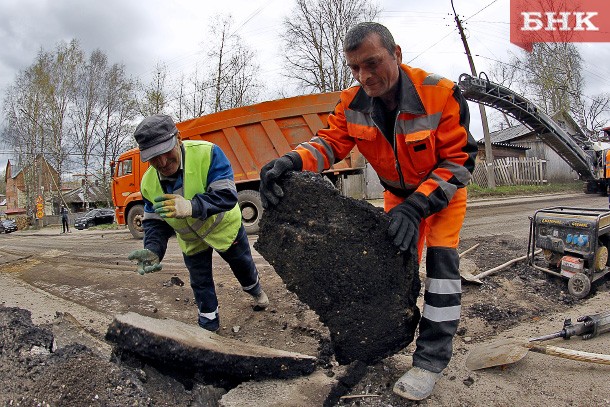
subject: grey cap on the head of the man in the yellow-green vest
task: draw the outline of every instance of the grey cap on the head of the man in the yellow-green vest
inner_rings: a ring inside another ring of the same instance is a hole
[[[142,120],[133,137],[140,147],[140,159],[148,161],[153,157],[171,151],[176,146],[178,129],[171,117],[156,114]]]

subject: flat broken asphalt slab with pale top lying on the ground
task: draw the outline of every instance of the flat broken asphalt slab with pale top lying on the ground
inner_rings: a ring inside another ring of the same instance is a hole
[[[196,325],[134,312],[115,316],[106,340],[115,344],[117,354],[128,352],[155,364],[236,381],[308,375],[317,361],[313,356],[252,345]]]

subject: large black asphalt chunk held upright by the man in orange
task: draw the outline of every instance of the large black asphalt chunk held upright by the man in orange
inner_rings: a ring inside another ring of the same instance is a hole
[[[289,173],[282,188],[254,247],[329,328],[337,361],[373,363],[411,343],[418,264],[393,247],[390,218],[317,174]]]

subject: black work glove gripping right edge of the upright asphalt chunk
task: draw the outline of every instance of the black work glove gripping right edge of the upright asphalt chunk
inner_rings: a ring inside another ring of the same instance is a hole
[[[390,209],[388,215],[392,218],[388,227],[388,236],[392,238],[394,246],[401,252],[409,252],[412,256],[417,256],[419,224],[424,217],[424,209],[407,199]]]

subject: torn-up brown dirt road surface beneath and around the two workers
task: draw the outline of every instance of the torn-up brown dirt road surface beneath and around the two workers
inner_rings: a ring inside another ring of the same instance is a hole
[[[484,271],[526,253],[528,216],[540,208],[564,205],[607,207],[607,198],[576,195],[551,200],[479,201],[468,210],[460,250],[480,246],[463,258]],[[141,241],[126,230],[73,231],[59,228],[0,235],[0,303],[32,312],[37,324],[51,322],[56,312],[70,312],[98,338],[112,316],[127,311],[156,318],[195,323],[196,306],[188,274],[175,240],[170,242],[163,271],[139,276],[126,260]],[[251,238],[251,243],[256,237]],[[261,278],[272,302],[265,312],[252,312],[251,299],[241,292],[227,265],[215,257],[220,302],[221,335],[316,355],[328,331],[317,316],[255,253]],[[184,282],[184,285],[175,284]],[[610,283],[601,282],[584,300],[567,294],[566,281],[541,275],[523,263],[485,279],[482,286],[464,284],[463,310],[455,356],[433,396],[435,406],[530,405],[610,406],[607,377],[610,366],[585,364],[530,353],[505,369],[470,372],[464,361],[469,350],[494,338],[534,336],[561,329],[563,319],[601,312],[610,304]],[[610,335],[592,341],[553,341],[557,346],[609,353]],[[341,405],[410,405],[391,392],[394,381],[410,366],[413,345],[369,367],[351,394],[375,397],[347,399]]]

